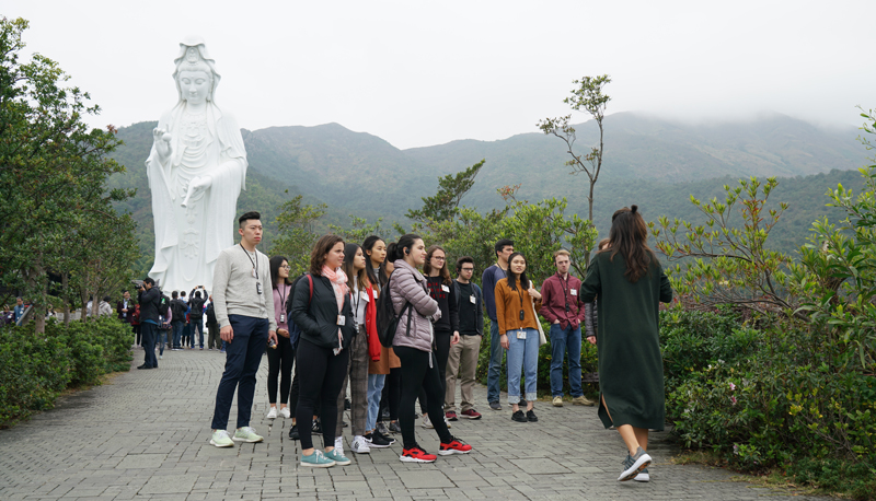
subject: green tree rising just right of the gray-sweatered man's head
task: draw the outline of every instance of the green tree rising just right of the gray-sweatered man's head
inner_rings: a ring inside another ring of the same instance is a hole
[[[286,256],[292,268],[289,271],[290,277],[302,273],[310,267],[310,252],[319,237],[315,222],[327,209],[325,203],[302,203],[303,198],[298,195],[280,206],[277,237],[270,247],[270,254]]]

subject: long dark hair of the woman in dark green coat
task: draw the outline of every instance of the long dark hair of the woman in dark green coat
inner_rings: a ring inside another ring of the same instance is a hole
[[[652,259],[657,259],[657,256],[648,247],[648,225],[638,213],[638,206],[629,209],[624,207],[614,212],[611,217],[609,246],[599,253],[611,253],[611,260],[620,254],[626,265],[623,276],[631,283],[648,273]]]

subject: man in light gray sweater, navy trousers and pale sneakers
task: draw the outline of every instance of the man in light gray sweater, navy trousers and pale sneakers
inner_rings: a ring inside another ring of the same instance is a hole
[[[234,442],[262,442],[250,427],[255,374],[265,345],[277,343],[274,294],[268,257],[256,250],[262,241],[262,217],[246,212],[238,220],[239,245],[219,254],[214,271],[214,310],[219,336],[228,343],[226,370],[216,392],[210,444],[230,447]],[[231,438],[226,430],[231,400],[238,391],[238,427]]]

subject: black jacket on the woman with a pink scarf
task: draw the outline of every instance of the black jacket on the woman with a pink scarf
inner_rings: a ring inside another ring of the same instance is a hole
[[[345,324],[341,326],[343,348],[349,347],[356,336],[356,321],[349,304],[349,294],[344,295],[342,313]],[[325,277],[313,277],[313,298],[307,277],[296,282],[292,292],[291,319],[301,329],[301,338],[323,348],[337,348],[337,300],[332,282]]]

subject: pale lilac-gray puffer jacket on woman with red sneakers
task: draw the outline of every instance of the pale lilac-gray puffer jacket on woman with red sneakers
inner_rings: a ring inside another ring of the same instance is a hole
[[[415,348],[420,351],[431,351],[433,330],[431,318],[441,317],[438,302],[429,295],[426,278],[404,259],[396,259],[395,270],[390,277],[390,295],[392,307],[399,315],[410,302],[414,307],[405,308],[399,318],[393,346]],[[413,314],[411,331],[407,333],[407,317]]]

